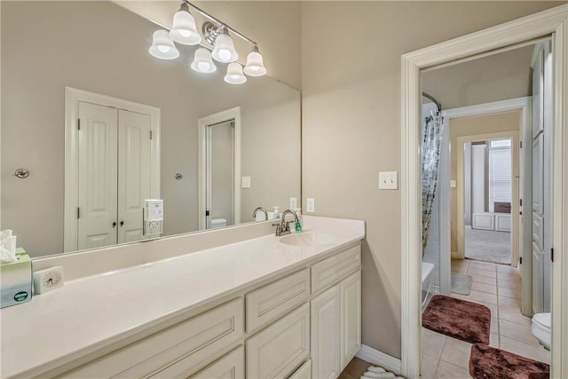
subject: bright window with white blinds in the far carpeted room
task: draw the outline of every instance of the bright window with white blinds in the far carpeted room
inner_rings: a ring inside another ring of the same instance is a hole
[[[489,211],[495,201],[511,202],[511,140],[489,141]]]

